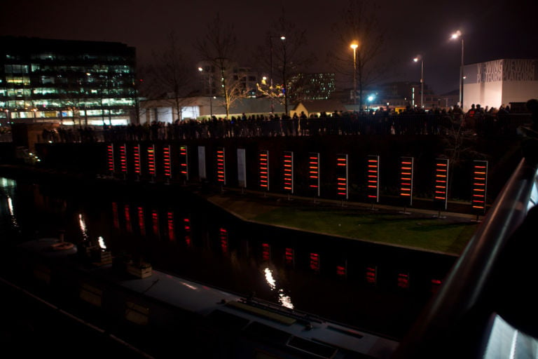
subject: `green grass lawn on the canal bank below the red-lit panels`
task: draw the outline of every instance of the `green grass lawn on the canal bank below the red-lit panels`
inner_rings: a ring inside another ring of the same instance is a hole
[[[469,219],[428,217],[420,213],[403,215],[311,207],[275,208],[251,220],[453,255],[460,255],[478,226]]]

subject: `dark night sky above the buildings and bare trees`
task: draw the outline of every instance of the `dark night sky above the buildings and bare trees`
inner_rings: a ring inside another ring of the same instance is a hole
[[[366,0],[373,4],[373,0]],[[395,61],[393,79],[419,81],[422,54],[427,86],[438,94],[458,88],[461,43],[450,41],[456,29],[464,33],[466,64],[501,58],[538,58],[537,0],[378,0],[378,15],[387,29],[385,56]],[[0,34],[50,39],[118,41],[137,48],[139,62],[165,46],[174,31],[192,53],[192,43],[219,12],[233,22],[245,52],[263,43],[270,25],[286,9],[287,18],[305,29],[308,45],[317,53],[312,72],[330,71],[326,53],[347,0],[50,0],[2,4]],[[255,46],[253,44],[256,44]],[[249,66],[250,64],[242,64]],[[338,84],[337,84],[338,85]]]

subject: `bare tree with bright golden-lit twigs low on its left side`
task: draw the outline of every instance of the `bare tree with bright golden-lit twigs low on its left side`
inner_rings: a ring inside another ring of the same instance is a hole
[[[305,53],[306,46],[306,30],[297,29],[294,22],[288,21],[283,9],[266,36],[265,46],[258,49],[263,67],[269,69],[269,79],[258,83],[258,91],[284,104],[286,114],[290,97],[301,97],[292,92],[302,88],[290,86],[289,80],[316,61],[313,53]]]

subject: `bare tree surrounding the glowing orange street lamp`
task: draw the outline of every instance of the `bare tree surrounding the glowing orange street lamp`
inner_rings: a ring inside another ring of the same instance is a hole
[[[353,90],[359,92],[359,108],[364,104],[365,88],[378,81],[389,67],[389,62],[381,56],[385,29],[380,25],[378,13],[378,6],[369,1],[349,0],[340,20],[332,27],[336,41],[328,60],[336,72],[354,80]],[[352,44],[357,48],[352,50]]]

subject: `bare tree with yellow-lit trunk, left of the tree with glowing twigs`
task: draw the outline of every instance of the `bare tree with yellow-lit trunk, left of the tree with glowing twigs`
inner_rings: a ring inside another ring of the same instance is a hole
[[[195,44],[202,61],[214,69],[214,79],[219,83],[217,95],[223,98],[226,118],[230,116],[230,107],[247,95],[241,83],[245,74],[237,66],[236,46],[233,25],[223,22],[219,13],[207,24],[205,34]]]

